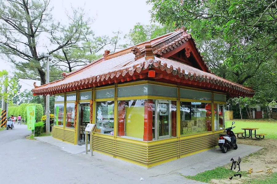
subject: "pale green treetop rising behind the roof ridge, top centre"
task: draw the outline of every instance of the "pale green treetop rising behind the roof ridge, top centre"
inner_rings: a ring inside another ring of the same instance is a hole
[[[130,45],[136,45],[146,40],[150,40],[152,38],[170,33],[172,31],[174,31],[174,27],[172,25],[141,25],[140,23],[137,23],[136,25],[134,25],[133,29],[130,29],[129,33],[126,34],[124,38],[130,40]]]

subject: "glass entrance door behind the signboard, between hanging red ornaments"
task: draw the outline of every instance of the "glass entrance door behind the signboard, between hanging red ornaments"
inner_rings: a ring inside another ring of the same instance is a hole
[[[79,103],[78,144],[85,144],[85,128],[90,123],[90,103]]]

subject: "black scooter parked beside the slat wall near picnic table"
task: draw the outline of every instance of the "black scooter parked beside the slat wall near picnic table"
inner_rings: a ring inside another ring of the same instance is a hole
[[[235,126],[233,127],[234,124],[235,124],[235,121],[232,122],[231,127],[226,128],[224,130],[224,132],[226,132],[227,134],[219,135],[218,146],[222,150],[223,153],[226,153],[227,150],[231,149],[231,148],[238,149],[237,139],[236,139],[234,132],[232,131],[232,129],[235,128]],[[220,127],[220,129],[223,130],[223,128],[221,128],[221,127]]]

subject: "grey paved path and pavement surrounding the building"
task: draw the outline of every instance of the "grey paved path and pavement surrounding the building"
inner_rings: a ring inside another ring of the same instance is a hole
[[[211,149],[145,169],[97,152],[94,152],[93,157],[68,153],[64,150],[70,147],[67,143],[59,142],[57,147],[53,143],[25,139],[28,134],[30,131],[26,125],[0,131],[0,183],[201,183],[188,180],[180,174],[192,175],[210,170],[230,162],[232,157],[235,159],[249,154],[247,150],[260,149],[244,145],[245,149],[231,150],[227,154],[223,154],[219,148]],[[144,180],[140,181],[141,177]]]

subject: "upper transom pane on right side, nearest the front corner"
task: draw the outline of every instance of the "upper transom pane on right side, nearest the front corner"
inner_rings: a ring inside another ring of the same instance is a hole
[[[163,97],[177,97],[177,88],[169,86],[160,86],[148,84],[148,95],[163,96]]]

